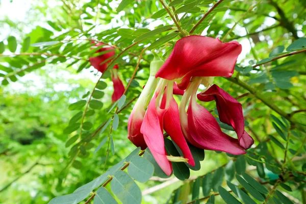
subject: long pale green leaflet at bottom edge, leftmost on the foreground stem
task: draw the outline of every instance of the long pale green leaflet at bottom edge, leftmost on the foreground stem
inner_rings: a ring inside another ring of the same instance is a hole
[[[83,189],[75,193],[71,193],[68,195],[62,195],[53,198],[48,202],[48,204],[75,204],[79,203],[91,193],[91,189]]]

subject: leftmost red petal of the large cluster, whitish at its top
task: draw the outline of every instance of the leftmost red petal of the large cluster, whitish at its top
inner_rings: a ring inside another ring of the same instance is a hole
[[[143,139],[143,135],[140,132],[140,127],[145,114],[144,109],[137,109],[134,107],[130,115],[129,122],[127,123],[127,138],[137,147],[141,147],[142,150],[147,148],[147,145]]]

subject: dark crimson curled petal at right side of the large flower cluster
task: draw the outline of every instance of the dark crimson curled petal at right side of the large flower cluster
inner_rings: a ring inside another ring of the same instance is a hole
[[[248,149],[254,140],[244,131],[244,118],[242,105],[217,85],[211,86],[207,91],[197,95],[201,101],[216,101],[220,121],[231,125],[237,133],[239,144]]]

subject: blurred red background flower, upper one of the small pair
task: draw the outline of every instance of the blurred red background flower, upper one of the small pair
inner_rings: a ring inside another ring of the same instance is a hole
[[[104,44],[100,42],[95,44],[95,46],[103,46],[103,45]],[[108,66],[107,64],[110,63],[111,61],[111,57],[115,55],[115,50],[113,47],[108,46],[108,47],[102,47],[96,51],[96,53],[101,53],[101,52],[104,52],[104,54],[99,55],[97,57],[89,58],[89,62],[95,69],[97,69],[101,73],[104,73],[104,71],[106,70]],[[107,59],[110,59],[110,60],[107,60]]]

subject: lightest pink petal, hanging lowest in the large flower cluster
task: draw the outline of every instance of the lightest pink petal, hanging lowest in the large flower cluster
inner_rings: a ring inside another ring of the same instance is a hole
[[[155,94],[149,103],[140,132],[143,134],[145,143],[148,145],[158,165],[167,175],[170,175],[172,165],[166,157],[167,153],[163,135],[163,117],[166,110],[156,108],[156,97],[157,95]]]

